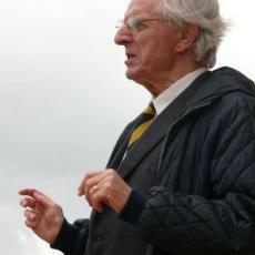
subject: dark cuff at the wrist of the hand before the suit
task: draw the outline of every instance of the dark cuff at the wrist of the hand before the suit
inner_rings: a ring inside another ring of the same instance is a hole
[[[119,218],[137,226],[145,203],[146,197],[132,190],[123,211],[119,214]]]

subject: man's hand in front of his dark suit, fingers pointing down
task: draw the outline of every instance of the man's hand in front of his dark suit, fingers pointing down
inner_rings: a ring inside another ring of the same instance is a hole
[[[115,213],[121,213],[131,190],[116,171],[109,169],[88,173],[78,188],[78,195],[84,195],[90,206],[100,213],[104,203]]]

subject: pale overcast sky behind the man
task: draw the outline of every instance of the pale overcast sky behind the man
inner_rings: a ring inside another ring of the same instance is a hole
[[[254,0],[220,2],[232,28],[217,67],[255,80]],[[149,93],[125,79],[124,51],[113,43],[126,3],[0,0],[0,254],[59,254],[23,225],[18,190],[42,190],[71,222],[88,217],[76,196],[81,177],[104,167],[147,103]]]

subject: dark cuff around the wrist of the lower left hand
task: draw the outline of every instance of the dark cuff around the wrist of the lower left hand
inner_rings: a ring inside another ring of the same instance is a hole
[[[51,248],[59,249],[62,253],[68,254],[72,249],[73,243],[78,238],[79,230],[79,227],[70,224],[64,218],[54,243],[50,245]]]

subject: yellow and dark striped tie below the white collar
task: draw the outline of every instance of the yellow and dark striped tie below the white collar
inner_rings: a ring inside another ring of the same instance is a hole
[[[134,129],[133,133],[130,136],[128,150],[133,145],[134,142],[136,142],[142,136],[142,134],[149,128],[149,125],[151,125],[154,115],[155,115],[155,109],[153,106],[153,103],[150,103],[142,113],[141,122]]]

